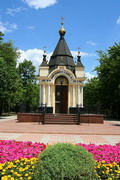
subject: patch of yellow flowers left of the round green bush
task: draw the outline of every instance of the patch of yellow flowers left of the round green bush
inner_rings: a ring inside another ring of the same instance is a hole
[[[34,164],[38,158],[20,158],[0,164],[1,180],[29,180],[33,178]]]

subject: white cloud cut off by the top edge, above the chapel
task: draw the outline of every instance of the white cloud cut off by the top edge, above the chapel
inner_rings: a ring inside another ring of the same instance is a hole
[[[51,6],[57,3],[57,0],[22,0],[22,1],[27,3],[28,6],[35,9],[46,8],[48,6]]]

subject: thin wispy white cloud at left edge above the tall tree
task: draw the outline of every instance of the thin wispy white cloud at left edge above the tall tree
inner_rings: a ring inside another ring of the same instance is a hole
[[[8,22],[3,23],[2,21],[0,21],[0,31],[2,33],[12,32],[16,29],[17,29],[17,24],[15,24],[15,23],[10,24]]]

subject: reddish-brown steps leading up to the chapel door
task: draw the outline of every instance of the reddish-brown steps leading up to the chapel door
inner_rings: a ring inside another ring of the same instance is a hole
[[[45,114],[44,124],[77,124],[76,114]]]

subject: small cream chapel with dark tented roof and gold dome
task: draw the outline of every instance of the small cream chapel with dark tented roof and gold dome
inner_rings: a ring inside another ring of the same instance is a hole
[[[80,51],[77,62],[65,40],[66,30],[63,22],[59,30],[59,41],[47,62],[44,51],[43,60],[39,66],[40,98],[39,108],[46,107],[46,113],[73,114],[77,107],[83,107],[83,87],[85,81],[84,66]]]

